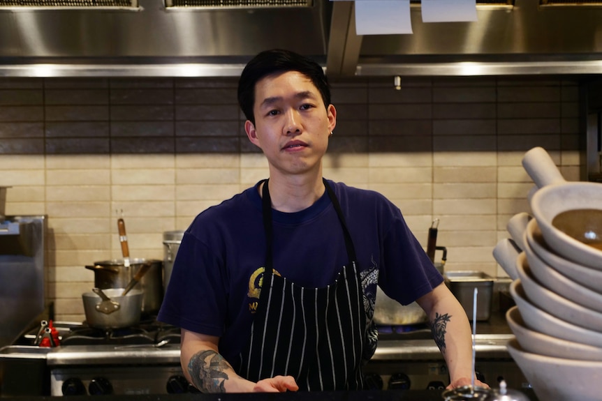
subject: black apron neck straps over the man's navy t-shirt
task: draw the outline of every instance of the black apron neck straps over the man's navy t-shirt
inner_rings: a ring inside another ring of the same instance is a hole
[[[357,259],[355,258],[355,247],[353,246],[353,241],[351,240],[351,234],[349,234],[349,230],[347,228],[345,216],[343,215],[343,211],[341,209],[341,205],[339,204],[339,199],[337,199],[337,195],[335,195],[335,191],[330,188],[326,179],[322,178],[322,182],[324,183],[324,187],[326,188],[326,192],[328,193],[328,197],[330,197],[330,202],[332,202],[332,206],[335,207],[335,211],[337,212],[337,216],[339,217],[339,222],[341,222],[341,227],[343,229],[343,235],[345,238],[345,248],[347,250],[347,257],[350,263],[355,262]],[[263,188],[261,190],[261,204],[263,206],[263,228],[265,231],[265,274],[272,275],[274,269],[274,255],[272,252],[272,242],[274,240],[274,227],[272,226],[272,199],[270,198],[270,190],[267,189],[267,179],[263,180]],[[264,281],[265,282],[265,281]]]

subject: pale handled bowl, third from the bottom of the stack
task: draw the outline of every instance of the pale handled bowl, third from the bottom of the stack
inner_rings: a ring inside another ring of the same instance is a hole
[[[581,344],[602,347],[602,333],[575,326],[562,319],[550,315],[548,312],[537,308],[529,301],[524,293],[521,280],[514,280],[510,285],[510,294],[514,299],[524,324],[531,330],[538,331],[563,340],[579,342]]]

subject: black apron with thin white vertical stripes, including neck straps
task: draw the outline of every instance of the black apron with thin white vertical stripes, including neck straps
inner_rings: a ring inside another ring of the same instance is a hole
[[[251,381],[282,374],[295,377],[306,391],[363,387],[366,315],[355,248],[337,197],[325,180],[324,185],[341,222],[349,262],[331,285],[305,288],[273,273],[272,206],[267,180],[263,183],[265,273],[238,372]]]

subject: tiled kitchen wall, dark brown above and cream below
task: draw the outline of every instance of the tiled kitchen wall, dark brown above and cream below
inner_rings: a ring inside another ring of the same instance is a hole
[[[7,215],[45,214],[47,298],[81,321],[85,268],[121,257],[163,259],[163,232],[267,174],[243,133],[235,78],[0,79],[0,186]],[[544,146],[579,177],[578,79],[392,77],[333,84],[338,111],[325,176],[383,192],[426,245],[439,218],[447,270],[505,275],[492,249],[529,211],[520,164]],[[438,254],[437,257],[440,257]]]

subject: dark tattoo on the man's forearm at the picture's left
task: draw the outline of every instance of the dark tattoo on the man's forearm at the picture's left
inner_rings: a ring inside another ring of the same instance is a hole
[[[188,372],[193,384],[203,393],[226,393],[223,382],[228,379],[225,370],[232,369],[216,351],[199,351],[190,358]]]

